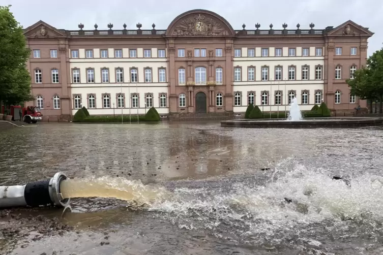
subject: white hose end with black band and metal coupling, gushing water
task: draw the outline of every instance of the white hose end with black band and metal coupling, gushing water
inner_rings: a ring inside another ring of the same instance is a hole
[[[63,172],[56,173],[51,179],[34,181],[25,185],[0,186],[0,208],[55,205],[66,207],[70,199],[64,199],[60,184],[69,179]]]

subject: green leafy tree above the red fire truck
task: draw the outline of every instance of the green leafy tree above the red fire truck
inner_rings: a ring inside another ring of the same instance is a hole
[[[0,6],[0,106],[33,100],[31,75],[26,69],[30,49],[10,7]]]

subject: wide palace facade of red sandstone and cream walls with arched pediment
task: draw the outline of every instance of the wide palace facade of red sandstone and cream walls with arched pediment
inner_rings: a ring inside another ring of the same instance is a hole
[[[24,35],[31,57],[34,102],[45,117],[69,118],[85,106],[91,115],[244,113],[302,110],[327,103],[350,112],[366,101],[350,94],[346,80],[366,63],[368,28],[352,21],[324,29],[234,30],[207,10],[176,17],[166,30],[57,29],[43,21]]]

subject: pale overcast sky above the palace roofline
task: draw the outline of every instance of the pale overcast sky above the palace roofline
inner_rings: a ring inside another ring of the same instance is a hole
[[[369,40],[368,54],[380,49],[383,45],[383,0],[0,0],[0,5],[12,5],[11,11],[24,26],[30,26],[40,19],[48,24],[63,29],[78,29],[83,23],[84,29],[107,29],[111,22],[114,29],[166,29],[169,23],[179,14],[192,9],[206,9],[224,17],[234,29],[255,29],[258,22],[261,29],[281,29],[286,22],[287,28],[308,29],[313,22],[315,28],[338,26],[352,20],[369,27],[375,33]]]

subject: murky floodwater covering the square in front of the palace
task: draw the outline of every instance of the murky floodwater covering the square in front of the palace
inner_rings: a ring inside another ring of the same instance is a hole
[[[0,185],[63,171],[66,196],[84,198],[64,213],[0,210],[0,254],[382,254],[382,155],[379,128],[11,129]]]

